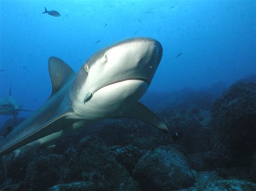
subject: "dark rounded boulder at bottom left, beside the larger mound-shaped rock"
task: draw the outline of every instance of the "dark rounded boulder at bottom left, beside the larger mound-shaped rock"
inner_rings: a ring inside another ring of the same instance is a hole
[[[46,190],[56,185],[64,163],[65,158],[60,154],[39,155],[26,170],[24,190]]]

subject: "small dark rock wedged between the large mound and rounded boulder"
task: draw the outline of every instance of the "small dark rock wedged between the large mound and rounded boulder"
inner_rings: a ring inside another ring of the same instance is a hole
[[[116,155],[116,161],[123,165],[129,174],[132,174],[135,165],[142,157],[142,151],[132,145],[116,148],[114,154]]]

